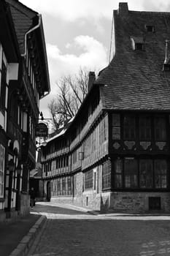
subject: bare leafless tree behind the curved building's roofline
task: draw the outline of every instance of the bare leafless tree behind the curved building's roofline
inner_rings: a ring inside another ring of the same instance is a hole
[[[48,105],[54,129],[61,127],[77,113],[88,92],[88,73],[87,68],[80,68],[77,75],[64,75],[56,83],[58,94]]]

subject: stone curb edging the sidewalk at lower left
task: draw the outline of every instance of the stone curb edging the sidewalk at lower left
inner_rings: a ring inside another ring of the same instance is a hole
[[[11,252],[9,256],[26,256],[31,245],[34,243],[36,236],[45,224],[45,216],[39,217],[33,227],[29,230],[28,234],[23,237],[18,246]]]

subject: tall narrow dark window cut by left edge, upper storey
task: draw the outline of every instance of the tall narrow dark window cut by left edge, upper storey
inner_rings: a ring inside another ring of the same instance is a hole
[[[7,83],[7,67],[2,61],[1,66],[1,87],[0,87],[0,108],[5,109],[5,99],[6,99],[6,83]]]

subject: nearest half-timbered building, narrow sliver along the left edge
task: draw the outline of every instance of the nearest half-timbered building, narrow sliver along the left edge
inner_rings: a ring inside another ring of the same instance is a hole
[[[7,165],[7,105],[9,83],[18,80],[19,48],[12,17],[5,1],[0,2],[0,220],[5,214],[5,175]]]

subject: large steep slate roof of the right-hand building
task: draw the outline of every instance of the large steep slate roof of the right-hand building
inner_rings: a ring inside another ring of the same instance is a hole
[[[103,107],[170,110],[170,71],[162,69],[165,40],[170,39],[170,13],[128,11],[123,15],[114,11],[114,20],[115,56],[96,80],[104,84],[100,86]],[[155,32],[147,32],[145,25],[155,26]],[[132,49],[131,37],[143,37],[144,51]]]

